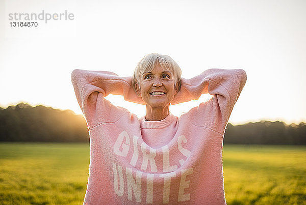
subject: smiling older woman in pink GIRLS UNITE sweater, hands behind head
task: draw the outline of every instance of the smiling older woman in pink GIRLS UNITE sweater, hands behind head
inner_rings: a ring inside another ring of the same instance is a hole
[[[90,133],[84,204],[225,204],[224,130],[246,81],[243,70],[210,69],[181,79],[169,56],[149,54],[133,77],[74,70],[75,95]],[[181,117],[170,104],[213,97]],[[109,94],[146,105],[138,118]]]

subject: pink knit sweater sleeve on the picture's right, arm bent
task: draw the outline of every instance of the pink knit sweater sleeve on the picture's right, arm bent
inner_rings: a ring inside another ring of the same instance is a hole
[[[224,135],[224,129],[234,105],[246,82],[241,69],[210,69],[191,79],[182,79],[182,86],[171,104],[198,99],[201,94],[213,95],[188,111],[187,116],[196,126],[207,127]]]

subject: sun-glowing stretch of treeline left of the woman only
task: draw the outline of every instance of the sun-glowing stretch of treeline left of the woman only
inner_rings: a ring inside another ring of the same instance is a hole
[[[20,103],[0,107],[0,141],[89,142],[86,121],[71,110]]]

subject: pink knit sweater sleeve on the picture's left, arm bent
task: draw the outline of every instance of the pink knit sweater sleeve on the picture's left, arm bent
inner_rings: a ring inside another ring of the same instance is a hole
[[[143,104],[133,90],[131,77],[119,77],[107,71],[76,69],[71,73],[71,82],[89,128],[100,123],[116,122],[127,112],[104,98],[109,94],[123,95],[126,101]]]

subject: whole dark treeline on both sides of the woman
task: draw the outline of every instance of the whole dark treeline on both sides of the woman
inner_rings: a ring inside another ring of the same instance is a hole
[[[20,103],[0,107],[2,142],[89,142],[86,121],[71,110]],[[224,143],[306,145],[306,124],[261,121],[245,125],[228,124]]]

